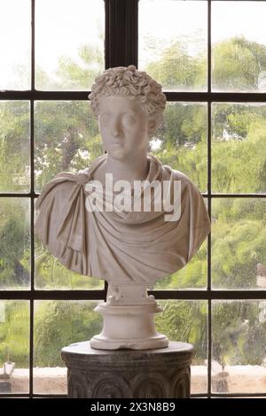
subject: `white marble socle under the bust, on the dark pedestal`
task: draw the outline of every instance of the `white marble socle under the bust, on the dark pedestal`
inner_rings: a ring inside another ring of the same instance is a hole
[[[98,350],[148,350],[168,346],[168,338],[159,334],[155,313],[162,308],[154,297],[147,296],[147,286],[137,283],[108,285],[107,301],[98,304],[96,312],[104,319],[102,332],[90,340]]]

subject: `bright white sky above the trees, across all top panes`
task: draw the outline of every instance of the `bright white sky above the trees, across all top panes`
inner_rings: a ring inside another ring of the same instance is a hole
[[[78,60],[78,48],[87,42],[104,48],[99,35],[104,31],[103,0],[35,0],[35,4],[35,62],[44,71],[54,72],[60,56]],[[266,45],[266,2],[214,2],[212,16],[213,42],[243,35]],[[193,54],[204,48],[206,27],[205,0],[140,0],[140,67],[153,58],[145,52],[148,35],[162,42],[194,38],[189,46]],[[0,0],[0,89],[12,89],[14,84],[29,88],[22,75],[16,79],[14,69],[29,68],[30,36],[30,0]]]

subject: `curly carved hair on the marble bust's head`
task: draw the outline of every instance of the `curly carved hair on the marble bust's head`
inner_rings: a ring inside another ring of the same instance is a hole
[[[97,117],[101,96],[134,96],[137,98],[148,115],[156,116],[157,123],[152,133],[159,126],[166,106],[166,96],[161,91],[161,85],[144,71],[138,71],[135,65],[109,68],[96,78],[89,98],[92,112]]]

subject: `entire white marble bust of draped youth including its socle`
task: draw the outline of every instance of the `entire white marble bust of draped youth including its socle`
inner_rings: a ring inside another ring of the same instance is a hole
[[[108,281],[107,301],[97,307],[104,328],[92,347],[165,347],[153,322],[160,307],[146,289],[199,250],[210,230],[207,210],[184,173],[147,153],[166,104],[160,84],[134,65],[110,68],[90,103],[106,154],[44,186],[36,232],[68,269]]]

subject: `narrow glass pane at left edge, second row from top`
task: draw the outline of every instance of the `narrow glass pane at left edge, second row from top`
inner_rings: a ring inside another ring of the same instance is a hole
[[[28,192],[29,103],[1,101],[0,124],[0,192]]]

